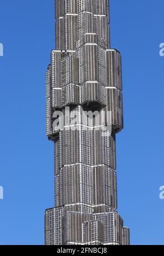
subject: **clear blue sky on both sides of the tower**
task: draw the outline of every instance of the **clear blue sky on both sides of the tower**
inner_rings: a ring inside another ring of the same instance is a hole
[[[132,244],[164,244],[163,0],[111,0],[122,53],[125,129],[117,137],[119,213]],[[45,136],[45,70],[54,0],[1,1],[0,244],[43,244],[54,205],[53,144]]]

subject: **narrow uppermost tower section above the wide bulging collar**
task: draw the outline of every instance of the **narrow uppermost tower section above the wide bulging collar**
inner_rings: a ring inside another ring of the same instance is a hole
[[[75,50],[84,43],[110,46],[107,0],[56,0],[56,49]]]

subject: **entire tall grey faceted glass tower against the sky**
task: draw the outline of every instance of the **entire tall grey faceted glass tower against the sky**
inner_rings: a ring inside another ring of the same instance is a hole
[[[45,211],[45,244],[130,244],[117,212],[122,77],[120,52],[110,48],[109,2],[56,0],[55,11],[56,49],[46,72],[55,207]]]

